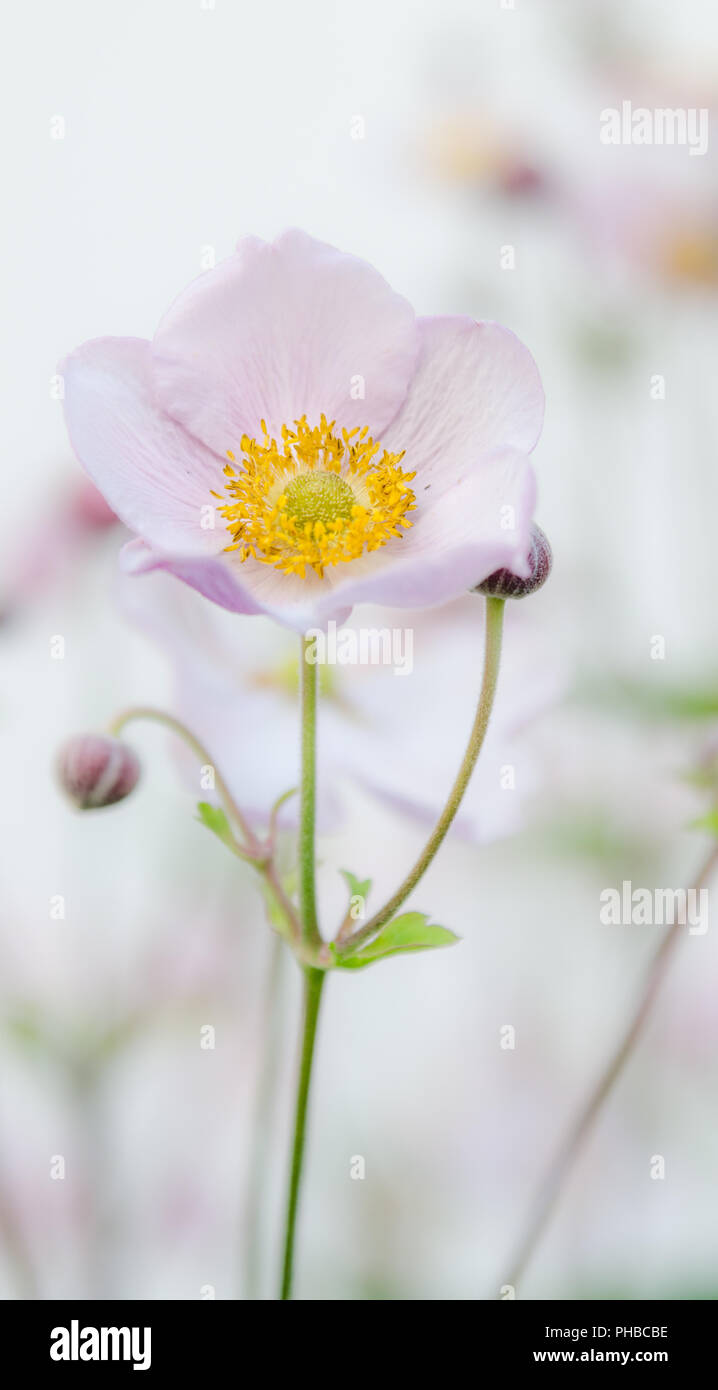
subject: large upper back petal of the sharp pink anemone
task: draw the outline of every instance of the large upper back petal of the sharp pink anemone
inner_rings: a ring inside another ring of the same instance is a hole
[[[261,420],[278,435],[324,413],[376,435],[417,352],[414,311],[379,272],[299,231],[240,242],[175,300],[153,345],[162,406],[222,456]]]

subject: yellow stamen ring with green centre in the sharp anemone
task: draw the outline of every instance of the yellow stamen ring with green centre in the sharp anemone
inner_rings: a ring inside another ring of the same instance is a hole
[[[326,567],[401,539],[415,510],[404,455],[382,449],[367,425],[335,425],[301,416],[276,441],[262,420],[261,441],[243,435],[240,460],[228,450],[225,492],[212,492],[232,537],[228,552],[324,578]]]

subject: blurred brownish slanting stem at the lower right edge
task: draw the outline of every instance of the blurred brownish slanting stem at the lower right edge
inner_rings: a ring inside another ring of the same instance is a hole
[[[711,849],[703,869],[700,870],[696,881],[693,883],[693,891],[700,892],[706,881],[710,878],[715,865],[718,863],[718,845]],[[611,1094],[615,1083],[621,1077],[626,1062],[629,1061],[633,1047],[643,1031],[643,1026],[649,1013],[651,1011],[653,1002],[661,988],[665,979],[665,972],[671,962],[672,954],[678,941],[681,938],[681,931],[683,930],[683,923],[674,922],[671,930],[667,931],[658,949],[656,951],[653,959],[649,963],[643,988],[639,995],[639,1002],[631,1016],[628,1027],[621,1036],[618,1047],[612,1052],[607,1066],[601,1072],[596,1086],[593,1087],[586,1105],[576,1116],[574,1126],[568,1131],[561,1148],[558,1150],[553,1163],[550,1165],[543,1186],[536,1198],[533,1211],[529,1216],[525,1234],[522,1236],[518,1250],[514,1255],[512,1269],[507,1279],[507,1283],[514,1289],[517,1287],[526,1265],[533,1255],[533,1251],[543,1234],[544,1227],[554,1211],[554,1207],[561,1194],[562,1184],[568,1177],[583,1143],[593,1129],[604,1102]]]

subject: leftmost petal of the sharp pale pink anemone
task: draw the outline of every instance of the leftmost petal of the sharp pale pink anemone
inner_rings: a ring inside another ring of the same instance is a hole
[[[224,484],[222,463],[153,400],[151,349],[142,338],[96,338],[62,363],[75,453],[117,516],[158,549],[207,555],[225,527],[203,530]]]

